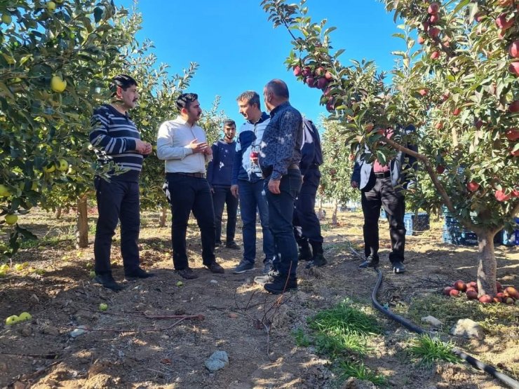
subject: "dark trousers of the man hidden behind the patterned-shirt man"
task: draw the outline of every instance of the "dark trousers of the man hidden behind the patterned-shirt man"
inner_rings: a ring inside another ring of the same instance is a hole
[[[295,200],[294,210],[294,233],[297,243],[303,241],[311,243],[323,243],[321,236],[321,223],[316,216],[316,194],[321,172],[318,169],[310,169],[304,175],[303,184],[299,196]]]

